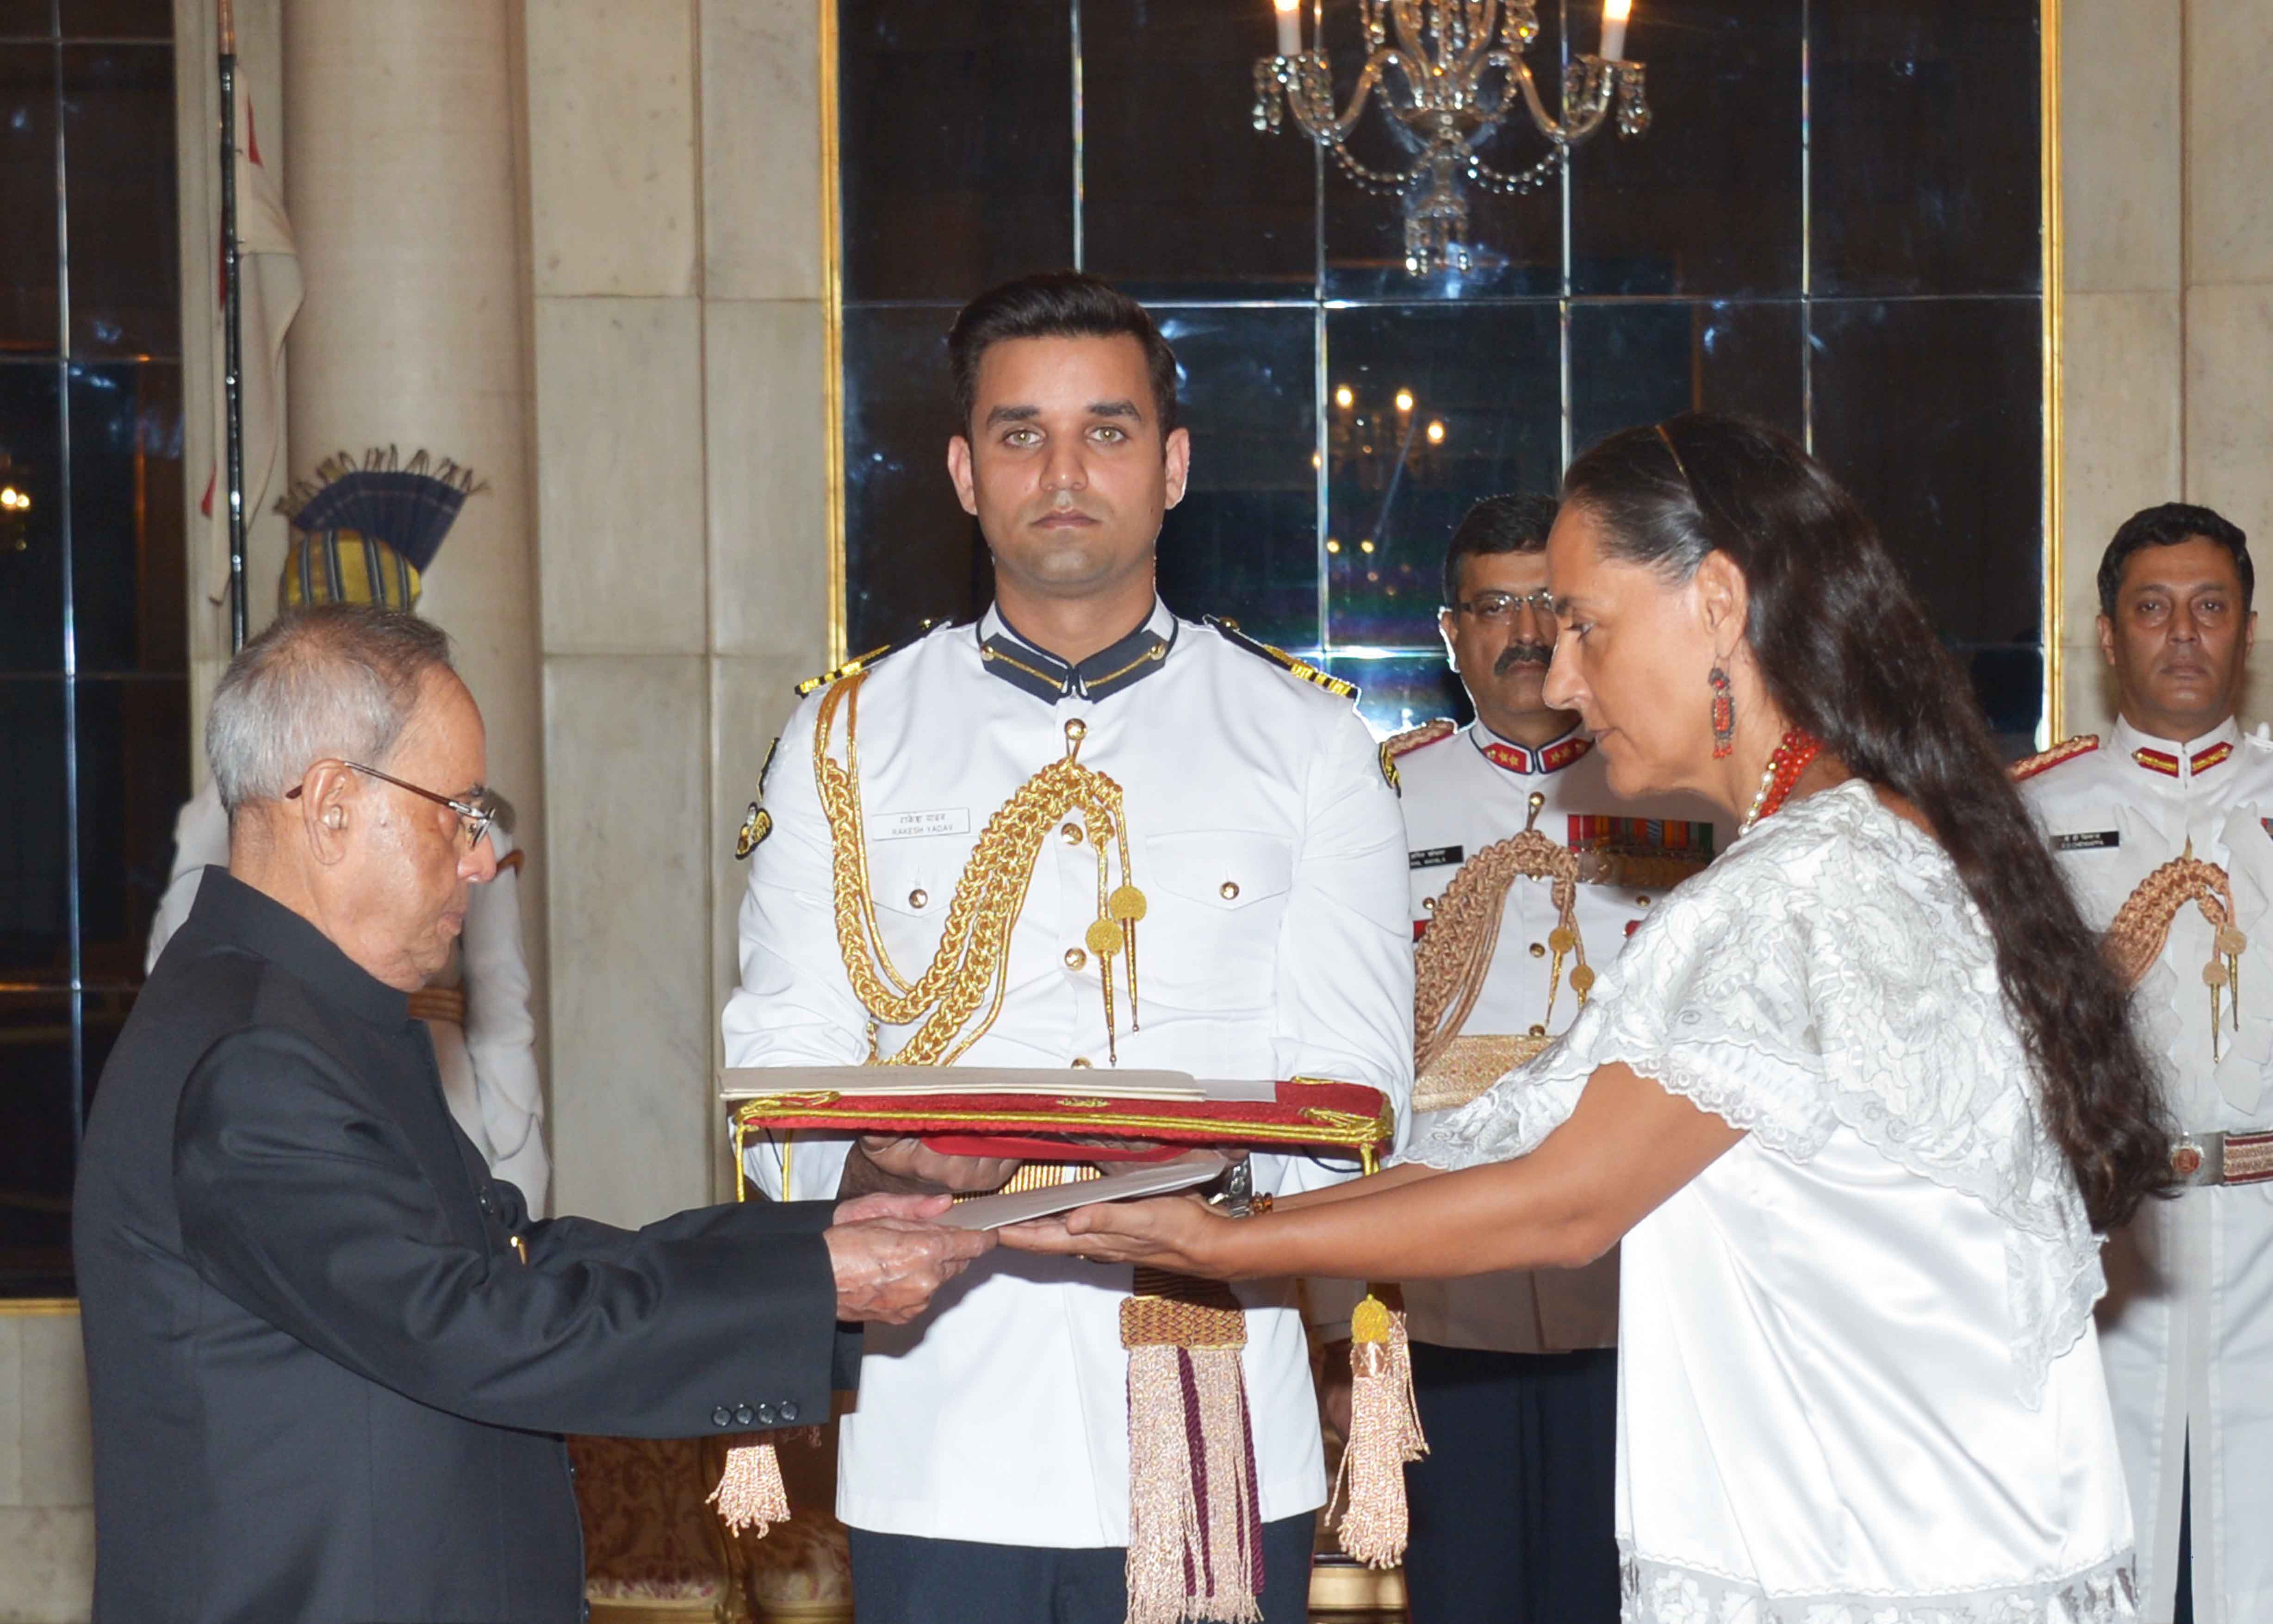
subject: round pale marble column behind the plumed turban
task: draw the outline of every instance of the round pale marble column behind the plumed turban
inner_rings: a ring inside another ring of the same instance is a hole
[[[291,473],[425,448],[475,469],[421,612],[457,641],[518,810],[523,933],[546,1024],[543,723],[530,539],[518,9],[286,0],[286,207],[307,303],[289,341]],[[539,1037],[543,1049],[543,1037]]]

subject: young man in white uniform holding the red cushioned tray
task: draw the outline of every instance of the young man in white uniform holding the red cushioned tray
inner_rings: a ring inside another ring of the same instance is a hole
[[[1380,1087],[1402,1124],[1398,801],[1346,685],[1155,596],[1155,541],[1189,441],[1150,316],[1093,277],[1030,277],[964,309],[950,359],[966,432],[948,464],[993,553],[996,605],[823,682],[791,716],[752,810],[727,1064],[927,1053],[1096,1067],[1100,1087],[1116,1062],[1318,1076]],[[868,973],[868,948],[864,903],[839,894],[841,876],[864,860],[880,944],[921,978],[989,819],[1068,751],[1118,787],[1121,828],[1096,828],[1096,812],[1052,819],[1009,926],[1000,1005],[989,987],[964,1024],[877,1017],[848,967]],[[1125,853],[1111,851],[1123,835]],[[1146,898],[1134,953],[1102,962],[1100,864]],[[768,1194],[802,1199],[991,1187],[1014,1165],[796,1135],[755,1144],[746,1167]],[[1264,1192],[1352,1171],[1255,1158]],[[923,1319],[868,1337],[839,1456],[861,1624],[1121,1624],[1130,1283],[1127,1267],[998,1251]],[[1325,1501],[1305,1333],[1289,1283],[1239,1299],[1262,1615],[1298,1624]]]

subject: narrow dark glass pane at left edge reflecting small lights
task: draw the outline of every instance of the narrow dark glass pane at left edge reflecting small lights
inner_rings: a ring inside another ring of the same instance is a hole
[[[0,362],[0,671],[64,669],[57,373],[52,362]]]

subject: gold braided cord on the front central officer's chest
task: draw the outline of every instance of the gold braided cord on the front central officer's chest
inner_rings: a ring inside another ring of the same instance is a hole
[[[868,880],[868,839],[859,796],[859,689],[866,673],[852,673],[830,687],[814,723],[814,785],[830,823],[830,860],[836,892],[836,948],[843,955],[852,992],[871,1014],[868,1060],[877,1060],[880,1024],[916,1026],[916,1033],[891,1058],[893,1064],[952,1064],[975,1044],[1002,1012],[1009,985],[1009,935],[1025,908],[1041,842],[1071,812],[1080,812],[1089,844],[1098,853],[1098,919],[1089,926],[1089,951],[1098,960],[1105,987],[1105,1044],[1118,1062],[1114,1017],[1114,960],[1127,960],[1130,1030],[1136,1030],[1136,923],[1146,917],[1146,896],[1136,889],[1130,867],[1127,819],[1121,810],[1121,785],[1080,764],[1082,737],[1089,728],[1066,723],[1066,755],[1018,785],[1018,792],[986,819],[971,860],[955,883],[939,951],[921,976],[909,980],[891,962],[884,933],[875,917]],[[846,760],[830,755],[836,714],[843,712]],[[1114,869],[1118,867],[1118,885]],[[975,1030],[964,1030],[980,1003],[986,1014]]]

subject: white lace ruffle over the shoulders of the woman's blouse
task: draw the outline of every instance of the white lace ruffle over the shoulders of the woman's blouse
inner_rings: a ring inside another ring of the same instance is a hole
[[[1482,1099],[1416,1124],[1409,1162],[1539,1146],[1623,1060],[1807,1160],[1837,1128],[2009,1226],[2014,1367],[2034,1401],[2105,1290],[2098,1240],[1948,855],[1868,785],[1809,796],[1657,905],[1593,1001]]]

